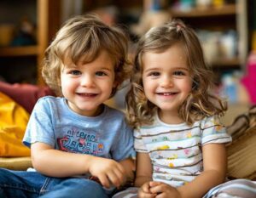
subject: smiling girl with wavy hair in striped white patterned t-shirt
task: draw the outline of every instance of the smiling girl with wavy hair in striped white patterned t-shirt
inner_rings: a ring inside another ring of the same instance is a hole
[[[212,88],[201,44],[182,21],[141,38],[126,96],[128,122],[136,128],[139,189],[126,197],[199,198],[224,182],[231,138],[219,122],[226,104]]]

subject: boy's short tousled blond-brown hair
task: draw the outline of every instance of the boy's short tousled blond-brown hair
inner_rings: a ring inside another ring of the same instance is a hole
[[[121,28],[106,25],[96,14],[75,16],[61,27],[53,42],[45,51],[42,75],[44,81],[57,95],[62,95],[61,66],[64,59],[71,59],[76,64],[81,57],[84,62],[91,62],[106,50],[113,59],[115,81],[118,87],[131,75],[131,64],[127,58],[128,37]]]

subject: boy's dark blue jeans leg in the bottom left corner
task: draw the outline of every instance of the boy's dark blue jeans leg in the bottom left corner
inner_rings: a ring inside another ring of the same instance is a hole
[[[0,197],[36,198],[44,185],[45,178],[37,172],[0,168]]]

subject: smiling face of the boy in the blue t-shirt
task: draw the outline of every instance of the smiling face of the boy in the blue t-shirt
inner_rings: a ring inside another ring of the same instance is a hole
[[[109,99],[114,82],[114,65],[109,54],[101,54],[90,63],[77,65],[65,60],[61,70],[61,91],[68,106],[83,116],[97,116],[99,106]]]

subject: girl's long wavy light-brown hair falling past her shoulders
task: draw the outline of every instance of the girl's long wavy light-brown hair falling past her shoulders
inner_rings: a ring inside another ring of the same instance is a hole
[[[151,124],[157,106],[151,103],[143,90],[143,55],[147,52],[161,53],[175,44],[182,46],[187,57],[189,73],[193,78],[192,91],[179,108],[179,116],[191,125],[206,116],[223,116],[226,103],[212,93],[213,74],[207,67],[201,44],[195,31],[181,20],[172,20],[165,25],[151,28],[137,46],[135,68],[131,88],[125,98],[126,116],[133,127]]]

